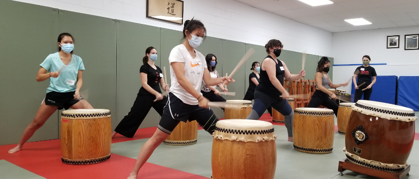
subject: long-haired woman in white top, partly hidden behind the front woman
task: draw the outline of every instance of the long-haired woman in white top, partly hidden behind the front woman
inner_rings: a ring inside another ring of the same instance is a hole
[[[217,57],[215,57],[214,54],[208,54],[205,57],[205,61],[207,63],[208,71],[210,72],[211,78],[219,78],[218,72],[215,70],[216,65],[217,65]],[[221,89],[222,91],[227,92],[227,89],[224,89],[222,84],[218,84],[216,86],[208,86],[203,80],[201,93],[205,98],[207,98],[211,102],[212,101],[225,102],[226,100],[222,96],[219,95],[219,90],[217,89],[217,87]],[[224,107],[221,107],[221,109],[224,110]]]

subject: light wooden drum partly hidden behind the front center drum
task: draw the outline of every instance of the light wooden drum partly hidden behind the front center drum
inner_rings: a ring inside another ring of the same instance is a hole
[[[225,101],[224,119],[246,119],[252,111],[252,101],[227,100]]]

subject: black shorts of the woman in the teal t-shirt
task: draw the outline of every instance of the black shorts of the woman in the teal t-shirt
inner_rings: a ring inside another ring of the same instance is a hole
[[[70,91],[70,92],[51,91],[51,92],[46,93],[44,101],[46,105],[54,105],[54,106],[58,106],[58,109],[64,108],[67,110],[72,105],[74,105],[75,103],[83,99],[83,97],[80,97],[80,99],[77,99],[77,100],[74,99],[74,93],[75,91]]]

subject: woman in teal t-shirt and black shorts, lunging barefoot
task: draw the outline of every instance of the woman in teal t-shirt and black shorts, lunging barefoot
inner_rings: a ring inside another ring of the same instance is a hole
[[[49,79],[45,99],[42,101],[33,121],[26,127],[19,143],[8,153],[22,149],[23,144],[32,137],[57,109],[93,109],[92,105],[80,96],[83,85],[84,65],[81,58],[73,55],[73,36],[61,33],[58,36],[58,52],[48,55],[40,64],[36,81]]]

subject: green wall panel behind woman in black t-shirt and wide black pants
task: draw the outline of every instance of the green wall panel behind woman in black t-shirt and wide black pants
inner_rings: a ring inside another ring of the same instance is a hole
[[[141,88],[140,67],[146,49],[153,46],[157,50],[158,60],[155,62],[160,67],[160,28],[133,22],[117,20],[117,86],[116,86],[116,124],[131,110]],[[163,70],[163,67],[162,67]],[[169,69],[166,69],[169,74]],[[163,90],[162,90],[163,92]],[[137,109],[140,110],[140,109]],[[155,127],[159,124],[160,115],[154,108],[150,109],[140,128]],[[116,125],[113,126],[115,128]]]

